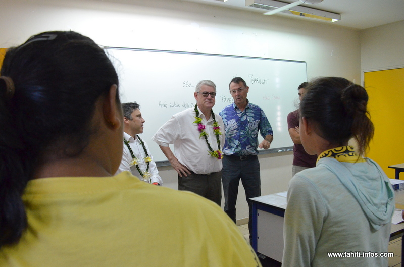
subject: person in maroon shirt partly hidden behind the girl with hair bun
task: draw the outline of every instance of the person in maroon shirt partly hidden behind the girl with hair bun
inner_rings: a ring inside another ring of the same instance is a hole
[[[301,83],[299,87],[297,87],[299,100],[305,94],[305,87],[309,85],[308,82]],[[316,166],[317,156],[309,155],[306,153],[305,148],[301,145],[300,142],[300,134],[299,134],[299,120],[300,114],[299,110],[292,111],[287,116],[287,128],[294,143],[293,145],[293,167],[292,167],[292,177],[305,169],[312,168]]]

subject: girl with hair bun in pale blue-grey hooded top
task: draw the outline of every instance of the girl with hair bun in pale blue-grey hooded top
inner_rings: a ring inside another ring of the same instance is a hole
[[[387,252],[394,191],[380,166],[363,157],[374,133],[367,102],[366,90],[344,78],[306,88],[300,139],[318,159],[289,183],[282,266],[387,266],[380,253]]]

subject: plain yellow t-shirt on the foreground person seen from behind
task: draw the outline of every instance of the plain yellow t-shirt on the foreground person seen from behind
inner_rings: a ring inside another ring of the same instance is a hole
[[[0,266],[260,266],[220,207],[190,192],[114,177],[32,180],[28,228]]]

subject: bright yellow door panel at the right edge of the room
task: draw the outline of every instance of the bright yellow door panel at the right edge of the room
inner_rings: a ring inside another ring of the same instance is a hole
[[[404,163],[404,68],[365,72],[364,82],[375,125],[367,156],[393,179],[394,169],[388,166]]]

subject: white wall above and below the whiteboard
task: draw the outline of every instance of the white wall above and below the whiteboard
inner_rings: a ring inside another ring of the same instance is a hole
[[[131,0],[131,5],[95,0],[0,1],[0,47],[20,44],[41,31],[74,30],[105,46],[306,61],[309,80],[342,76],[359,82],[361,77],[359,31],[328,23],[177,0]],[[296,90],[297,95],[297,86],[285,89]],[[260,156],[262,194],[287,190],[292,159],[291,152]],[[176,188],[176,172],[171,167],[159,169],[165,185]],[[240,188],[238,219],[248,215],[244,199]]]

